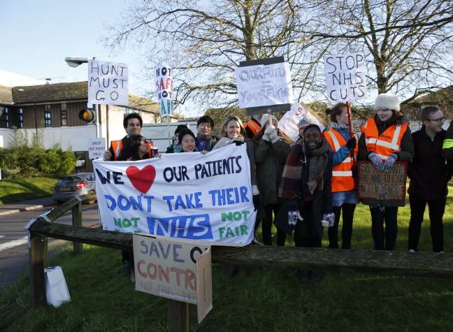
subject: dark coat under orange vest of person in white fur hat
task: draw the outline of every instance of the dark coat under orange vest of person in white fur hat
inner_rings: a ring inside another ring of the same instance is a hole
[[[393,126],[394,124],[403,124],[402,122],[403,119],[401,120],[389,120],[386,122],[382,122],[379,120],[377,115],[375,116],[375,123],[377,127],[377,131],[379,134],[385,131],[390,126]],[[401,145],[400,145],[400,151],[396,152],[395,154],[398,156],[397,161],[410,161],[414,157],[414,144],[412,143],[412,134],[410,133],[410,129],[405,131],[403,138],[401,138]],[[368,160],[368,154],[370,154],[370,151],[367,150],[366,148],[366,142],[365,142],[365,135],[364,133],[361,134],[359,138],[359,152],[357,153],[357,160]],[[371,206],[388,206],[388,207],[396,207],[396,206],[404,206],[404,202],[400,201],[383,201],[383,200],[373,200],[373,199],[362,199],[362,203],[366,205],[371,205]]]

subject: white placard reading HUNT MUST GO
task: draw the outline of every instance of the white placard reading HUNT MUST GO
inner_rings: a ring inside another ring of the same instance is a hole
[[[127,64],[88,60],[88,103],[129,105]]]

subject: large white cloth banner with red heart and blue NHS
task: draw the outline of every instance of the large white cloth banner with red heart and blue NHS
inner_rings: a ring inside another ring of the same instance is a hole
[[[142,161],[93,161],[103,229],[243,246],[253,239],[245,145],[164,154]]]

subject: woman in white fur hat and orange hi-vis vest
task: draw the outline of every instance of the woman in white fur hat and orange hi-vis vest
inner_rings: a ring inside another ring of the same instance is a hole
[[[388,172],[396,161],[410,161],[414,145],[408,121],[399,112],[394,94],[380,94],[375,100],[376,115],[364,124],[359,139],[358,160],[370,160],[380,172]],[[398,206],[401,201],[363,199],[370,205],[371,231],[375,250],[394,250],[398,233]],[[385,224],[385,229],[384,229]]]

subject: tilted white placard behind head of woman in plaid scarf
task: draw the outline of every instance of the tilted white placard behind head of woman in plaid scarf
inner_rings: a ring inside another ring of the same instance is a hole
[[[298,124],[305,117],[310,124],[317,124],[321,131],[326,128],[324,123],[315,113],[304,103],[293,103],[291,110],[287,111],[278,122],[278,129],[283,131],[289,138],[297,140],[299,136]]]

